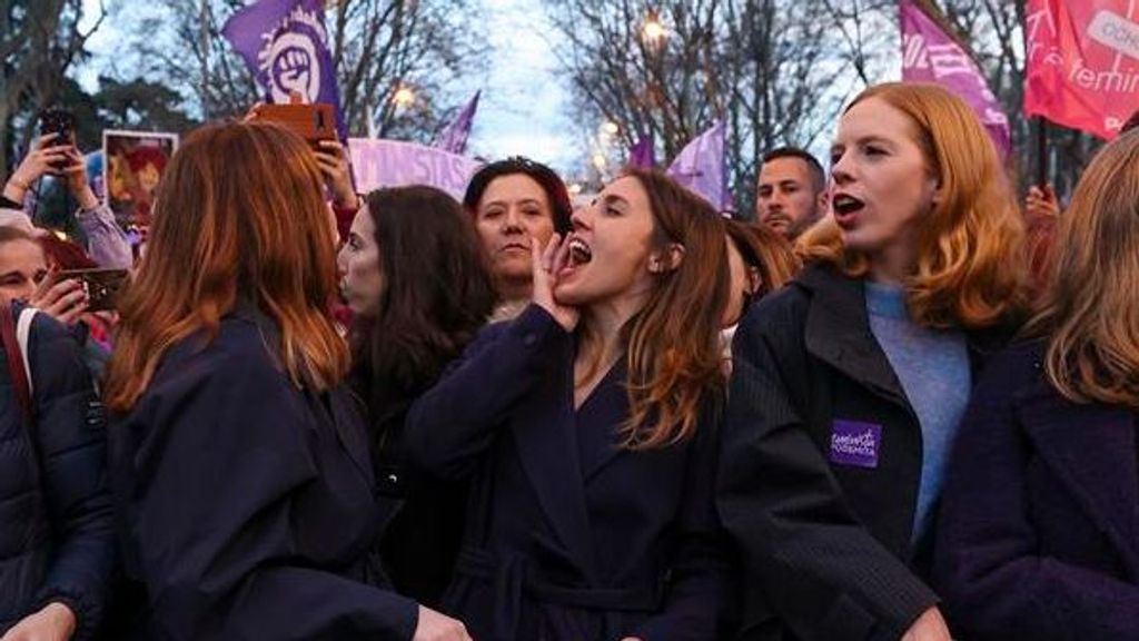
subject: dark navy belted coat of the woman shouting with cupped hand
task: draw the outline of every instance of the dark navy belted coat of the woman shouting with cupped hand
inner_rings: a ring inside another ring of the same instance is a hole
[[[444,609],[478,641],[722,638],[735,597],[715,416],[686,444],[620,448],[623,363],[575,411],[573,360],[574,338],[531,306],[412,407],[412,459],[472,480]]]

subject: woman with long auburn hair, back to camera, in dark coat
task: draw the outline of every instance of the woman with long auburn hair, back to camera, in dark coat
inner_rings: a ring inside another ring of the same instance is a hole
[[[368,441],[300,137],[192,132],[163,177],[106,384],[139,639],[468,639],[385,587]]]

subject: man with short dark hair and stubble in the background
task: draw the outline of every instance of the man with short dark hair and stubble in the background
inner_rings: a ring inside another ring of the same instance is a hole
[[[763,156],[755,214],[760,222],[794,241],[827,211],[827,176],[814,156],[780,147]]]

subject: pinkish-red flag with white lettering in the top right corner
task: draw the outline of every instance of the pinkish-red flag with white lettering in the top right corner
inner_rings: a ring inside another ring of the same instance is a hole
[[[1139,108],[1139,3],[1029,0],[1024,111],[1112,139]]]

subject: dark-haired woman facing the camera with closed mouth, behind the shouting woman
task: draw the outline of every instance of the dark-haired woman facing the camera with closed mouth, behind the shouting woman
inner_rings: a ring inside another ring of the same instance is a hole
[[[492,320],[514,318],[531,299],[530,238],[546,246],[555,232],[570,232],[570,193],[552,169],[516,156],[480,169],[462,206],[475,220],[494,277],[499,306]]]

